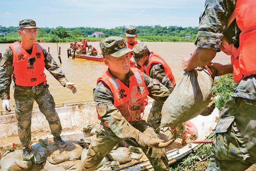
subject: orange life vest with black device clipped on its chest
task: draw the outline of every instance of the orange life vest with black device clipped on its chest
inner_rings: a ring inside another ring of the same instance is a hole
[[[39,43],[34,42],[31,55],[24,50],[19,42],[10,45],[13,53],[14,67],[12,80],[15,78],[15,84],[19,86],[36,86],[42,82],[46,83],[44,73],[45,57],[42,47]],[[29,62],[29,58],[34,58],[35,62]]]

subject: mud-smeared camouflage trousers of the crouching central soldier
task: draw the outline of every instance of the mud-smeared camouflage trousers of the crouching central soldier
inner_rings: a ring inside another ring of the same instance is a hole
[[[154,132],[154,129],[151,128],[146,121],[133,121],[130,122],[130,124],[140,132],[146,133],[151,137],[158,138],[158,135]],[[97,137],[91,141],[87,158],[84,160],[80,171],[95,170],[98,164],[101,163],[101,160],[113,149],[113,147],[122,141],[120,138],[114,135],[110,128],[107,128],[105,125],[101,126],[101,131],[102,134],[97,135]],[[135,145],[129,142],[126,143],[142,148],[155,171],[169,171],[168,159],[164,148],[145,148],[138,144]]]

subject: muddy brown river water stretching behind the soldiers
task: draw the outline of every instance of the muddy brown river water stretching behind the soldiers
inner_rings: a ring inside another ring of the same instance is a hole
[[[92,46],[99,50],[99,42],[88,42]],[[195,45],[193,43],[176,43],[176,42],[146,42],[150,51],[161,55],[166,60],[168,65],[171,67],[173,75],[178,82],[184,71],[181,67],[182,58],[189,57],[190,53],[193,53]],[[9,44],[0,44],[0,53],[2,55]],[[46,80],[50,85],[49,90],[54,97],[55,103],[69,102],[69,101],[80,101],[80,100],[91,100],[93,99],[93,88],[96,86],[97,79],[106,71],[107,66],[103,62],[89,61],[87,59],[72,59],[67,57],[67,48],[69,43],[58,43],[61,47],[61,60],[62,64],[58,59],[57,44],[56,43],[41,43],[41,45],[48,50],[50,47],[50,53],[52,54],[55,61],[59,64],[63,70],[65,76],[70,82],[74,82],[78,88],[76,94],[72,94],[71,90],[64,88],[47,70]],[[217,53],[214,62],[222,64],[230,63],[229,56],[224,53]],[[13,109],[14,98],[12,89],[13,83],[11,84],[11,100],[10,105]],[[37,105],[36,102],[34,105]],[[2,105],[0,105],[2,110]]]

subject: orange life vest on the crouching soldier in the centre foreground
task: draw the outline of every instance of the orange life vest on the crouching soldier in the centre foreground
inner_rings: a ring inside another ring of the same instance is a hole
[[[119,79],[112,77],[107,70],[97,81],[104,82],[110,88],[114,96],[114,106],[128,121],[140,120],[140,114],[144,112],[148,104],[149,94],[142,73],[136,68],[131,68],[133,75],[129,78],[129,87]]]

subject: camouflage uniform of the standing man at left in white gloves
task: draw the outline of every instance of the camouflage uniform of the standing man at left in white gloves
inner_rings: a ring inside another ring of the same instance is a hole
[[[68,82],[67,78],[65,78],[52,55],[44,48],[42,49],[45,57],[45,68],[64,86]],[[4,61],[1,62],[0,66],[0,95],[1,100],[3,100],[10,99],[11,75],[14,69],[12,66],[13,54],[10,47],[7,48],[1,61]],[[30,125],[34,100],[38,103],[39,110],[48,120],[52,135],[57,137],[61,133],[60,119],[48,87],[49,85],[44,85],[44,83],[31,87],[14,85],[15,114],[18,120],[18,134],[23,147],[27,147],[31,141]]]

